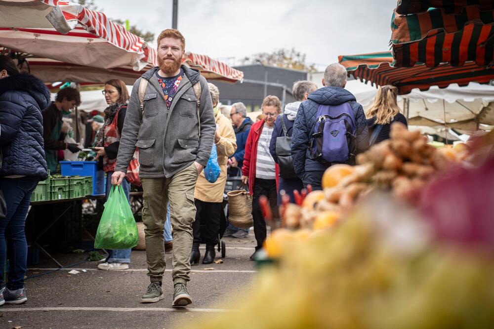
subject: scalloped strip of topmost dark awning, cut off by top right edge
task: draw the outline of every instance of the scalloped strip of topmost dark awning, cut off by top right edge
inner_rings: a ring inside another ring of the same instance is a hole
[[[494,9],[493,0],[398,0],[400,15],[415,14],[429,8],[444,8],[447,13],[459,13],[468,5],[479,5],[481,10]]]

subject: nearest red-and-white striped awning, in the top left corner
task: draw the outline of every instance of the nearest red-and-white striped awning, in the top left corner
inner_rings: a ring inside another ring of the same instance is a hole
[[[156,63],[142,38],[102,12],[60,0],[0,0],[0,44],[40,57],[97,68]]]

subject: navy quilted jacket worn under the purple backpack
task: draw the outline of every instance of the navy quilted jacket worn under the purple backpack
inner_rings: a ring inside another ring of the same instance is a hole
[[[324,87],[311,93],[308,99],[298,108],[291,141],[291,156],[293,167],[299,177],[305,171],[326,170],[328,164],[321,164],[310,159],[309,136],[316,123],[319,105],[340,105],[350,102],[357,123],[357,154],[369,148],[369,130],[362,105],[356,102],[355,96],[340,87]]]

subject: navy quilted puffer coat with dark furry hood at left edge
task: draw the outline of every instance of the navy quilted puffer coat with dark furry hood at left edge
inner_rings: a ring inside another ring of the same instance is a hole
[[[16,74],[0,79],[0,177],[46,179],[43,117],[50,92],[40,79]]]

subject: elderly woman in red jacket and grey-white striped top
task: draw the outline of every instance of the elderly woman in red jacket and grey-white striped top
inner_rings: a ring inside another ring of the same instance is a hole
[[[276,117],[281,113],[280,99],[272,95],[266,96],[261,108],[264,119],[254,123],[250,128],[242,167],[242,181],[244,184],[248,183],[249,193],[253,197],[252,217],[257,246],[250,256],[251,260],[266,240],[266,222],[259,207],[259,198],[262,195],[268,198],[273,217],[278,218],[277,195],[280,170],[269,152],[269,144]]]

